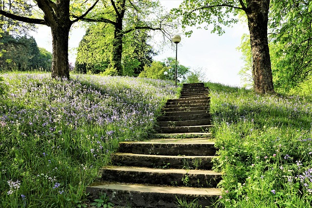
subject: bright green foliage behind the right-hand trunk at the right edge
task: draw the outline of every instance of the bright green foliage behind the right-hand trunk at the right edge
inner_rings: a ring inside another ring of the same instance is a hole
[[[274,84],[289,90],[312,76],[312,1],[273,0],[270,10]]]

